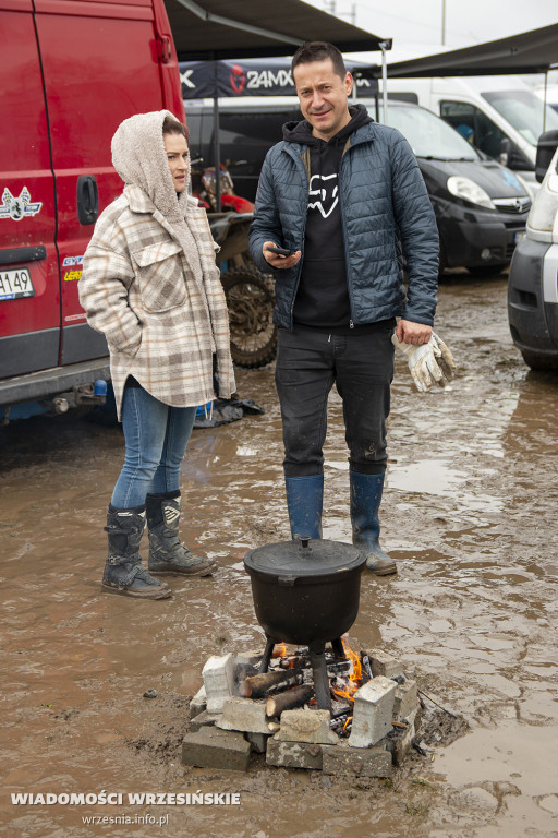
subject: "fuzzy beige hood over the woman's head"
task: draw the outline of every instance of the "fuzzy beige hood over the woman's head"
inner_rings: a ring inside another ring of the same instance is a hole
[[[157,210],[172,222],[187,213],[190,170],[184,191],[177,201],[162,141],[166,117],[177,119],[170,110],[136,113],[125,119],[118,127],[110,147],[112,165],[124,183],[140,187]]]

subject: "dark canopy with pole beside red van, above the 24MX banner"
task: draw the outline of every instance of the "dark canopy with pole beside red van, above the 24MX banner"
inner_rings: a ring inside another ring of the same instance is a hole
[[[230,0],[165,0],[165,5],[179,61],[270,58],[294,52],[304,40],[327,40],[342,52],[381,50],[385,68],[386,50],[391,49],[391,39],[379,38],[302,0],[235,0],[234,4]],[[216,67],[213,99],[217,173],[220,94]],[[218,177],[216,187],[220,207]]]

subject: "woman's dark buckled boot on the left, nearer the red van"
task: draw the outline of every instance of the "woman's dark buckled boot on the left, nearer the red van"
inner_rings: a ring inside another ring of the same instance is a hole
[[[142,566],[140,542],[145,529],[143,506],[118,510],[109,506],[106,532],[109,554],[102,574],[102,590],[138,599],[168,599],[172,591],[166,582],[149,576]]]

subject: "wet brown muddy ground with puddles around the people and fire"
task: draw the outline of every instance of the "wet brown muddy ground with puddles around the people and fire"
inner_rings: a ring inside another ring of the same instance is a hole
[[[2,835],[558,836],[558,380],[529,372],[512,346],[506,277],[446,277],[437,331],[459,378],[422,395],[398,361],[381,524],[399,575],[363,577],[350,639],[400,657],[469,732],[414,752],[390,782],[267,768],[262,757],[247,774],[181,765],[207,657],[263,647],[242,558],[288,537],[272,369],[239,371],[240,394],[266,414],[195,431],[183,465],[183,532],[220,570],[170,579],[170,601],[99,589],[120,429],[76,415],[0,429]],[[349,540],[341,428],[332,397],[324,537]],[[157,697],[143,697],[151,689]],[[239,792],[241,803],[10,799],[101,790]],[[83,821],[146,814],[168,823]]]

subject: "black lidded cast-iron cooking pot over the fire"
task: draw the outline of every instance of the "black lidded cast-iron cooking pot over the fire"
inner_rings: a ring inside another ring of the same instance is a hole
[[[256,618],[268,637],[307,646],[349,631],[359,613],[366,555],[341,541],[300,539],[251,550]]]

